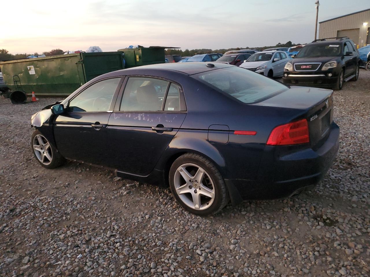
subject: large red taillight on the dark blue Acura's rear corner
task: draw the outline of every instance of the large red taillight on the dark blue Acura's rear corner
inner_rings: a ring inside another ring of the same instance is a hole
[[[275,127],[267,140],[267,145],[289,145],[309,143],[307,119]]]

